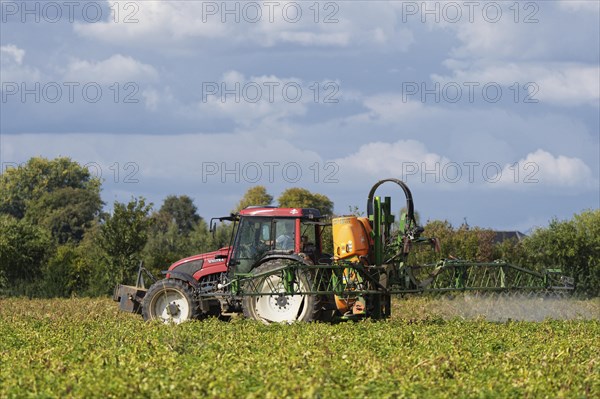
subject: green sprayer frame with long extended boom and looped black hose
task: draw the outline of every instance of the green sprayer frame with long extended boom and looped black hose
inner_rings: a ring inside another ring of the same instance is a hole
[[[394,215],[391,199],[375,196],[377,188],[386,182],[398,184],[406,196],[406,213],[398,229],[393,231]],[[373,227],[373,248],[370,257],[358,262],[345,260],[331,264],[306,264],[298,260],[283,260],[281,266],[263,273],[234,274],[229,289],[221,293],[207,292],[200,297],[337,296],[342,299],[362,298],[367,313],[373,318],[390,316],[392,295],[445,293],[452,291],[569,291],[573,279],[562,276],[559,269],[537,272],[503,261],[470,262],[445,259],[433,264],[408,265],[406,261],[413,245],[430,244],[439,248],[436,239],[421,237],[423,229],[416,223],[412,194],[398,179],[385,179],[369,193],[367,213]],[[299,276],[310,276],[299,284]],[[275,279],[269,277],[275,276]],[[269,281],[277,284],[270,284]]]

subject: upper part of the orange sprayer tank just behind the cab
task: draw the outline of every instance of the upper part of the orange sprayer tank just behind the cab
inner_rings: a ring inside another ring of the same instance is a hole
[[[358,258],[369,254],[372,229],[367,218],[343,216],[334,218],[332,225],[335,259]]]

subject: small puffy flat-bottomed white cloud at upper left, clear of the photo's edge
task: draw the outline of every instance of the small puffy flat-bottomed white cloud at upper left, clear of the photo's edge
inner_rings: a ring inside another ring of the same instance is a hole
[[[114,54],[102,61],[74,59],[69,62],[65,72],[66,81],[85,81],[99,84],[140,83],[155,81],[157,78],[158,72],[153,66],[121,54]]]

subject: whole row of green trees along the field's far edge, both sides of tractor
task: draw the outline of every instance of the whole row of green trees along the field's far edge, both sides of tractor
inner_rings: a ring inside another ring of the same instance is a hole
[[[231,227],[209,233],[192,199],[168,196],[155,210],[143,198],[105,212],[101,182],[68,158],[32,158],[0,176],[0,293],[27,296],[106,295],[133,283],[140,260],[159,274],[177,259],[225,246]],[[265,187],[249,189],[236,208],[271,205]],[[301,188],[284,191],[282,207],[333,215],[333,202]],[[356,208],[354,209],[356,211]],[[352,210],[351,210],[352,212]],[[442,241],[441,257],[506,259],[526,267],[558,266],[581,291],[600,294],[600,211],[553,220],[523,241],[494,242],[494,232],[430,221],[425,236]],[[430,262],[440,254],[417,253]]]

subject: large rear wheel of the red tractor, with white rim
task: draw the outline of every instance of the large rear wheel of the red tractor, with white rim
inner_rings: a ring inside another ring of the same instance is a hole
[[[253,270],[254,273],[268,273],[283,266],[280,260],[271,260]],[[307,269],[297,269],[295,278],[299,291],[310,290],[313,277]],[[264,293],[269,295],[246,295],[242,308],[246,318],[259,320],[265,324],[295,321],[311,322],[318,320],[321,304],[318,295],[273,295],[283,292],[281,272],[256,277],[246,283],[244,293]]]

